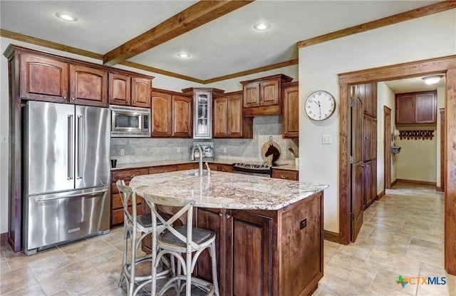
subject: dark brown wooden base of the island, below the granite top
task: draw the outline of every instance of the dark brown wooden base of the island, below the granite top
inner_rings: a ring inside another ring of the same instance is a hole
[[[220,295],[311,295],[323,277],[323,191],[279,210],[196,208],[217,234]],[[150,251],[150,239],[144,250]],[[197,276],[212,281],[210,258]]]

